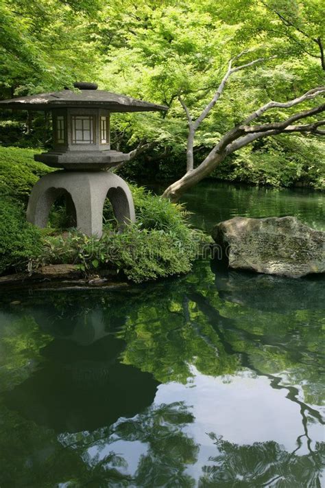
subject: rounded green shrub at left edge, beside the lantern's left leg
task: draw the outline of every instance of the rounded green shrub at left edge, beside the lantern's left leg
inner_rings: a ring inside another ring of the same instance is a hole
[[[17,200],[0,200],[0,274],[23,270],[30,259],[41,253],[42,231],[26,222],[23,206]]]

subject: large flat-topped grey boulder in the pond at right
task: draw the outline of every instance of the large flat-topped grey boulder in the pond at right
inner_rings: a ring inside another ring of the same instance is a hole
[[[325,232],[295,217],[235,217],[215,225],[212,237],[230,268],[292,278],[325,272]]]

